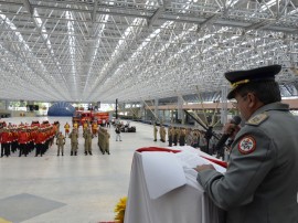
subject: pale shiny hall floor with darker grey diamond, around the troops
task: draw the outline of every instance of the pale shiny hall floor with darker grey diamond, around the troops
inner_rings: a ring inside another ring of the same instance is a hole
[[[31,123],[32,119],[58,120],[70,117],[8,118],[12,124]],[[126,121],[124,121],[126,123]],[[93,139],[93,156],[84,155],[79,137],[77,157],[70,156],[70,140],[64,157],[56,156],[56,146],[43,157],[19,158],[13,153],[0,159],[0,220],[22,223],[97,223],[113,221],[114,208],[127,195],[134,151],[140,147],[166,146],[153,141],[152,126],[130,123],[137,132],[123,132],[116,141],[111,127],[110,155],[102,155],[97,138]],[[82,131],[82,129],[81,129]],[[2,211],[1,211],[2,210]]]

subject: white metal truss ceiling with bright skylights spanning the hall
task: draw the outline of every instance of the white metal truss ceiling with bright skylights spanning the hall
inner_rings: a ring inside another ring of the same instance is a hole
[[[297,0],[3,0],[0,98],[217,99],[224,72],[267,64],[291,96],[297,40]]]

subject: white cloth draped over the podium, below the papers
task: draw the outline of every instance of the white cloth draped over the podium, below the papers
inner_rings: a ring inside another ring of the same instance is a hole
[[[198,183],[196,172],[185,168],[183,171],[187,179],[184,185],[157,199],[150,199],[142,153],[135,152],[125,223],[220,223],[220,210]]]

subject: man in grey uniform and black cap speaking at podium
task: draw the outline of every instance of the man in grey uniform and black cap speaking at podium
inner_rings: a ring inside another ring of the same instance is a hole
[[[224,126],[234,139],[224,174],[198,166],[198,181],[211,200],[226,211],[226,223],[298,222],[298,120],[281,103],[270,65],[225,73],[227,98],[246,121]]]

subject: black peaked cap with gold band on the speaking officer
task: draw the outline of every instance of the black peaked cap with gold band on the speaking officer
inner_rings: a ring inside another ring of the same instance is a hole
[[[275,81],[275,75],[281,70],[280,65],[269,65],[246,71],[226,72],[225,78],[231,83],[232,89],[227,94],[227,99],[232,99],[235,91],[247,83],[259,81]]]

